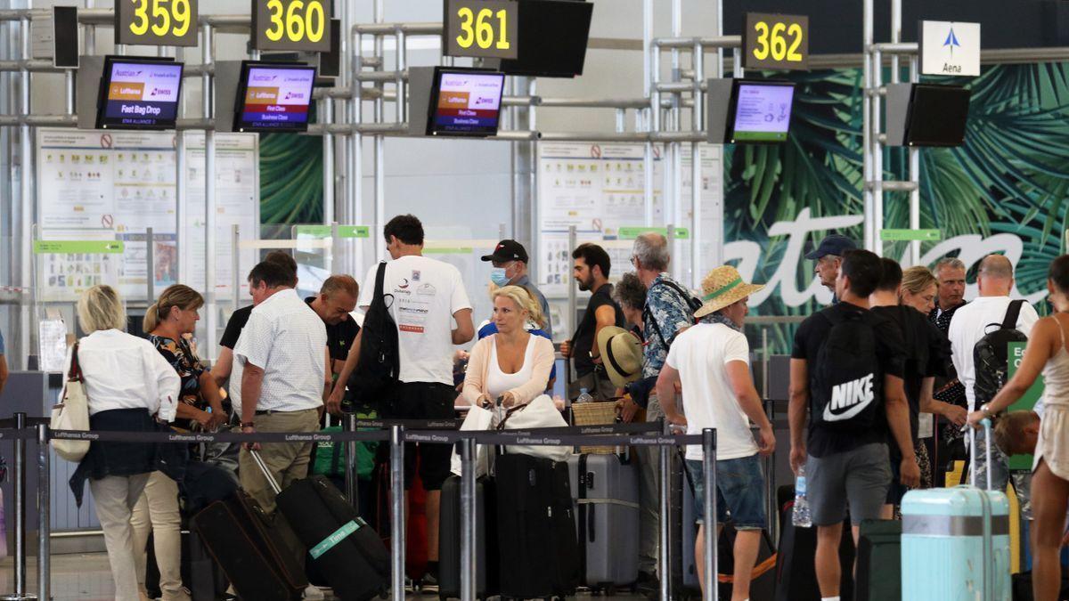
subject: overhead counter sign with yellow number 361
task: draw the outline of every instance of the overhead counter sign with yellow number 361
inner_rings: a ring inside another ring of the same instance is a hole
[[[520,56],[520,3],[514,0],[446,0],[443,45],[449,57],[515,59]]]

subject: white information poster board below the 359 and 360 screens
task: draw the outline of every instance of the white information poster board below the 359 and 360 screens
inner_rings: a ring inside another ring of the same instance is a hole
[[[127,299],[144,300],[150,277],[146,228],[153,229],[155,289],[162,291],[182,281],[203,292],[204,134],[185,133],[183,227],[189,235],[183,249],[177,247],[175,136],[173,132],[37,129],[37,237],[124,242],[121,255],[35,255],[42,300],[73,302],[97,283],[118,284]],[[259,237],[258,142],[255,135],[248,134],[219,134],[215,139],[217,286],[220,295],[229,297],[231,226],[238,224],[244,238]],[[253,250],[247,253],[243,265],[255,260]]]

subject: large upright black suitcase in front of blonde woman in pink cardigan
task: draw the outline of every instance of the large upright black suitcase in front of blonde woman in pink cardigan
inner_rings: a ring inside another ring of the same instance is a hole
[[[508,569],[502,598],[567,597],[579,584],[579,548],[568,463],[526,454],[496,458],[497,541]]]

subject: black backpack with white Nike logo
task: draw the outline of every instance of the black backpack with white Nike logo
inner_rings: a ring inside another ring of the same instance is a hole
[[[832,329],[817,353],[810,418],[827,429],[870,428],[883,407],[876,330],[866,313],[825,310],[822,314]]]

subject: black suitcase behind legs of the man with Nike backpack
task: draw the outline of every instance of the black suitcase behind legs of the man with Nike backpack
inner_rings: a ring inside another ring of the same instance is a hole
[[[779,549],[776,555],[776,601],[820,601],[817,584],[817,527],[796,528],[791,523],[794,512],[794,487],[780,487]],[[854,537],[848,519],[842,524],[839,543],[839,599],[854,600]]]

